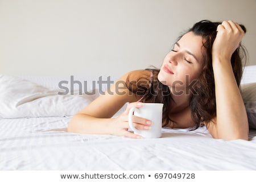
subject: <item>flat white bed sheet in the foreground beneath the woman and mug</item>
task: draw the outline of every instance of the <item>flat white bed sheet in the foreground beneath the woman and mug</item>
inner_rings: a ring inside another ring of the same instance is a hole
[[[70,117],[0,119],[1,170],[247,170],[256,169],[250,140],[163,129],[157,139],[65,132]]]

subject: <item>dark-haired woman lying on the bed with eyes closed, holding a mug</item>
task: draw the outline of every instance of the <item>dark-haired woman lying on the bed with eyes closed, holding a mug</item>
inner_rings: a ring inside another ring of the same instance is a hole
[[[117,82],[126,86],[113,84],[113,94],[107,92],[75,114],[68,131],[142,138],[128,131],[129,110],[143,107],[143,102],[160,102],[164,103],[163,127],[193,130],[205,125],[213,138],[247,140],[249,127],[239,89],[245,31],[233,21],[196,23],[180,36],[160,70],[122,76]],[[130,103],[127,109],[111,118],[126,102]],[[133,119],[138,130],[152,125],[146,118]]]

